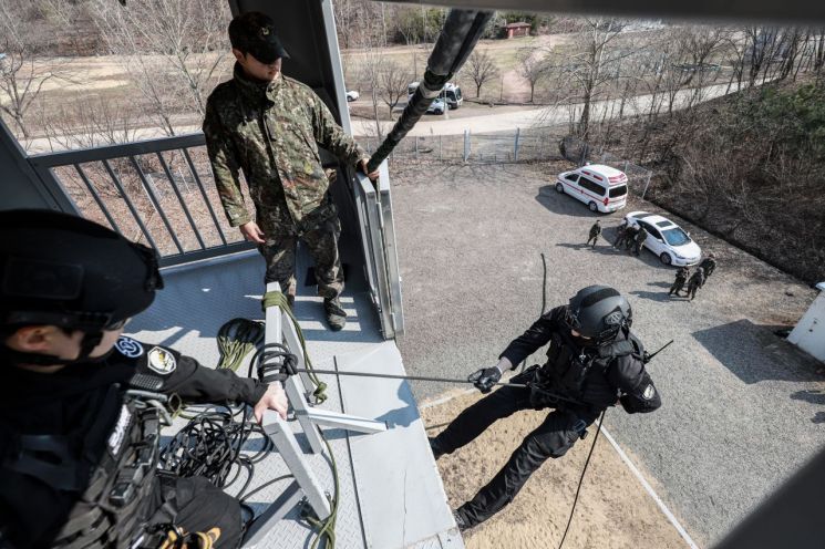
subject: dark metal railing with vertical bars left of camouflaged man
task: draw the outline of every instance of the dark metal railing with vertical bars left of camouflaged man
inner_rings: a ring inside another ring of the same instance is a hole
[[[28,160],[81,215],[154,248],[162,267],[254,248],[223,216],[203,134]]]

